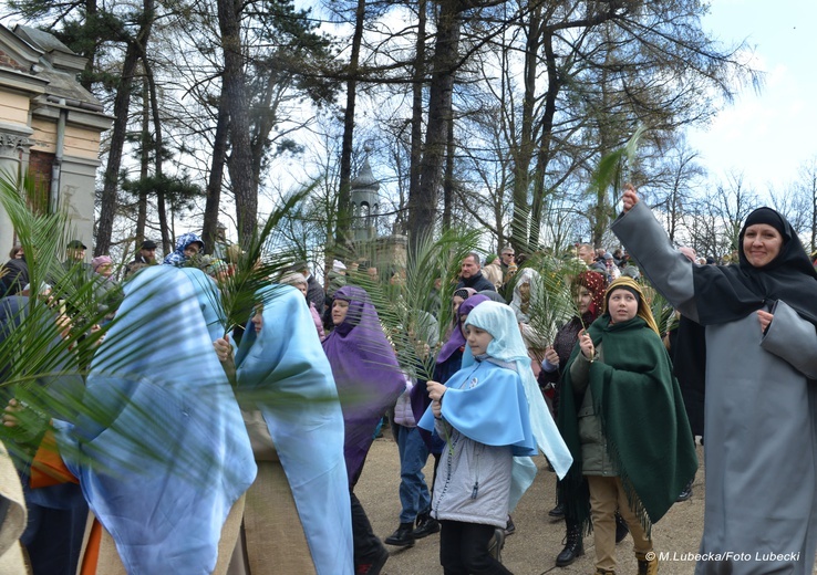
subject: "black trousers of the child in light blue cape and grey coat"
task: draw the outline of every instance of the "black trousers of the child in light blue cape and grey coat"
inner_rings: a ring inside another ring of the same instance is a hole
[[[441,521],[439,564],[445,575],[513,575],[488,554],[493,525]]]

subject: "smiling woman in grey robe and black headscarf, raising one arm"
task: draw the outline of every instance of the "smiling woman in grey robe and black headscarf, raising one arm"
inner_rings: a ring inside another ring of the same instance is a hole
[[[623,206],[613,231],[664,297],[706,332],[701,553],[709,560],[695,573],[810,574],[817,273],[797,233],[759,208],[741,230],[737,265],[695,265],[632,186]]]

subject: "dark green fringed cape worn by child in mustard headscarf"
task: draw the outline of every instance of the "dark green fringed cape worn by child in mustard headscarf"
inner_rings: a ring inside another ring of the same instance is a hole
[[[596,346],[603,346],[603,362],[590,365],[596,414],[630,508],[649,534],[697,470],[681,390],[666,349],[641,317],[610,324],[604,314],[588,333]],[[577,416],[582,397],[569,393],[570,366],[579,353],[577,344],[565,367],[559,404],[559,430],[573,456],[559,483],[559,501],[576,524],[589,531],[590,498],[582,478]]]

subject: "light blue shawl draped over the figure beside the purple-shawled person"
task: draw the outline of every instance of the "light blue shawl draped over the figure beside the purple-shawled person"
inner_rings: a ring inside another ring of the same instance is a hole
[[[241,404],[263,414],[318,575],[353,571],[352,516],[338,389],[301,292],[258,294],[263,326],[248,323],[236,355]]]

